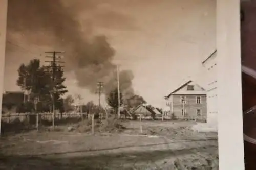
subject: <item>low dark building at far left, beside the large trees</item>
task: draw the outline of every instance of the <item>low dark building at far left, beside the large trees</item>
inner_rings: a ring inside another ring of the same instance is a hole
[[[2,100],[2,113],[15,113],[16,108],[24,103],[25,97],[23,91],[5,91]]]

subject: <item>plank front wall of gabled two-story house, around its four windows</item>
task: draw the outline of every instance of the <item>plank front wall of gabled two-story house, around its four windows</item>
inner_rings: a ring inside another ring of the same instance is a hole
[[[181,96],[185,96],[184,109],[186,110],[186,116],[181,115],[181,109],[183,109],[183,104],[181,104]],[[197,104],[196,97],[201,96],[201,104]],[[173,113],[177,118],[188,118],[188,119],[207,119],[207,102],[206,94],[197,95],[172,95],[173,97]],[[197,116],[197,109],[201,109],[201,116]]]

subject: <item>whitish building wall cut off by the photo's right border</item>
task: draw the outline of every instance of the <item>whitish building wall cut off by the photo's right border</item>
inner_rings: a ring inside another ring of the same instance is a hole
[[[206,69],[207,123],[218,125],[217,107],[217,52],[204,64]]]

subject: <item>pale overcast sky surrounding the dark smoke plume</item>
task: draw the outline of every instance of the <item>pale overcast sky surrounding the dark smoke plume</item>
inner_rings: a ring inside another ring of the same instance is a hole
[[[89,12],[83,9],[80,2],[73,3],[73,6],[80,7],[78,20],[86,27],[88,23],[84,21]],[[91,20],[94,34],[108,37],[116,51],[114,62],[121,65],[120,69],[133,71],[135,92],[142,95],[149,104],[163,107],[163,96],[177,88],[188,76],[204,85],[201,62],[216,48],[216,1],[95,2],[95,10],[90,11],[90,15],[94,14]],[[102,19],[104,11],[122,13],[128,18],[126,24],[121,17],[115,15]],[[19,90],[15,85],[18,66],[35,56],[44,58],[44,51],[48,47],[25,42],[22,35],[14,32],[8,33],[7,40],[6,57],[10,59],[6,61],[4,88]],[[84,102],[97,101],[95,94],[76,86],[71,72],[66,77],[69,93],[83,94]]]

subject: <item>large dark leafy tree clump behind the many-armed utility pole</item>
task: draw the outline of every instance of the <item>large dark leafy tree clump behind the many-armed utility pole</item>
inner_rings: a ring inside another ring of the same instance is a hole
[[[33,102],[35,97],[39,98],[38,111],[50,111],[49,106],[52,107],[53,102],[55,109],[59,109],[61,112],[64,110],[64,102],[61,97],[68,91],[63,85],[65,80],[61,67],[56,67],[53,84],[51,68],[41,67],[38,59],[31,60],[28,65],[21,64],[18,68],[17,85],[23,90],[30,91],[29,102]],[[53,87],[55,87],[55,93]],[[53,96],[54,101],[52,101]]]

